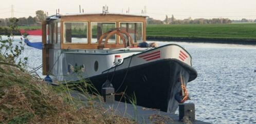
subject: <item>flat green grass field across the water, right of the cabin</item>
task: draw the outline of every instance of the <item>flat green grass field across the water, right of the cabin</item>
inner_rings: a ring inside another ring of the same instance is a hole
[[[147,25],[147,36],[256,39],[256,24]]]

